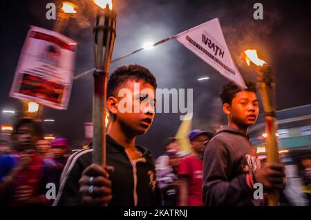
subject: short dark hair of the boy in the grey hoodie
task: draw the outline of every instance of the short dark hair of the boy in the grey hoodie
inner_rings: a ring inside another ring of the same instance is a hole
[[[244,89],[244,91],[250,91],[253,93],[256,93],[256,84],[251,81],[245,82],[247,89]],[[234,84],[233,82],[228,82],[227,84],[224,84],[223,87],[221,88],[221,93],[220,93],[220,98],[223,104],[228,103],[231,104],[234,96],[236,93],[239,91],[242,91],[243,89],[239,88]]]

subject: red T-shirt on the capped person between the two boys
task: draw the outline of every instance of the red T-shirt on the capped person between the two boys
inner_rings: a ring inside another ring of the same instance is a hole
[[[180,161],[178,175],[189,177],[187,206],[204,205],[202,201],[202,170],[203,161],[197,156],[186,156]]]

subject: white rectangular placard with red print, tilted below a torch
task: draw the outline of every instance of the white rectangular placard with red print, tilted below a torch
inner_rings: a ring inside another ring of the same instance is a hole
[[[60,33],[31,26],[10,97],[67,109],[73,83],[77,43]]]

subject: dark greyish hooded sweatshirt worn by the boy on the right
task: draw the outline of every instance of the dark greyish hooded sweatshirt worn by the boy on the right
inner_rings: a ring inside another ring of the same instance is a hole
[[[246,174],[260,168],[248,136],[221,127],[209,141],[203,156],[205,205],[261,205],[247,185]]]

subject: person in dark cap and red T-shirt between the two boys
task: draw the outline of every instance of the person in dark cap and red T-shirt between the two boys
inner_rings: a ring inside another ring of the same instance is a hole
[[[180,201],[182,206],[202,206],[202,152],[213,133],[196,129],[190,132],[192,154],[185,156],[178,167]]]

